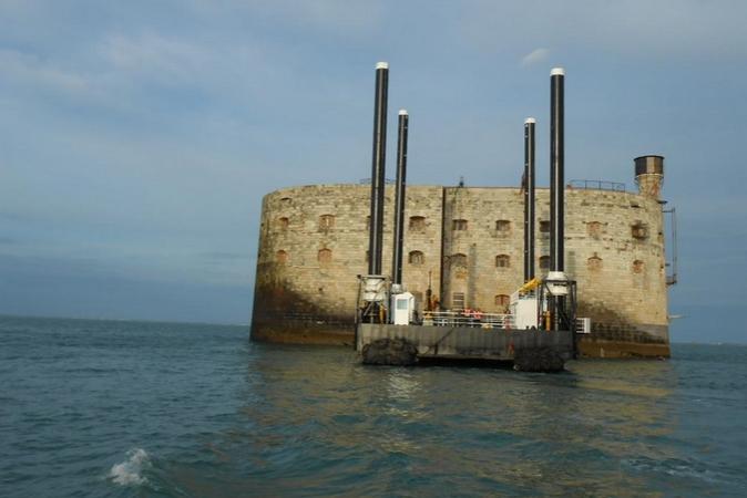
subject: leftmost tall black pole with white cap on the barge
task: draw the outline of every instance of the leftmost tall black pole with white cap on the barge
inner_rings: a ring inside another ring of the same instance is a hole
[[[376,97],[374,104],[374,159],[371,164],[371,225],[368,240],[368,273],[381,274],[381,242],[383,238],[383,184],[387,154],[387,93],[389,64],[376,64]]]

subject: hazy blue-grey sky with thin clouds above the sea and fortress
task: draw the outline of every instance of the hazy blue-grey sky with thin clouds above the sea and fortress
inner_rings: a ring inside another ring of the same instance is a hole
[[[673,341],[747,342],[747,2],[0,0],[0,313],[248,323],[262,197],[370,176],[519,185],[550,70],[566,179],[666,157]],[[543,166],[544,165],[544,166]]]

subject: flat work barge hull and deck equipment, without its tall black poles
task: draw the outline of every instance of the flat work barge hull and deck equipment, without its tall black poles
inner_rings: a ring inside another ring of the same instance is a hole
[[[375,279],[362,277],[364,282]],[[563,284],[566,282],[563,282]],[[356,350],[364,363],[413,365],[416,363],[504,364],[521,371],[554,372],[575,357],[575,331],[569,326],[552,329],[552,315],[542,310],[546,303],[541,286],[533,279],[514,294],[511,313],[482,313],[479,310],[426,311],[421,320],[409,315],[411,294],[391,294],[390,323],[361,321],[356,326]],[[376,302],[369,289],[369,301]],[[572,295],[566,295],[572,299]],[[567,307],[572,310],[573,305]],[[365,311],[365,310],[361,310]],[[546,320],[539,326],[534,317]],[[361,312],[361,319],[366,314]],[[573,319],[572,319],[573,320]],[[589,319],[575,319],[581,331]],[[563,322],[564,323],[564,322]]]

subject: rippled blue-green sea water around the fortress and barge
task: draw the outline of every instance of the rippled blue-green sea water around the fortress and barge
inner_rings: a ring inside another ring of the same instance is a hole
[[[0,317],[0,496],[747,496],[747,347],[370,367],[245,326]]]

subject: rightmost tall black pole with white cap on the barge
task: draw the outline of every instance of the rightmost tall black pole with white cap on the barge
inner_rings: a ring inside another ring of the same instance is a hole
[[[565,71],[553,68],[550,72],[550,271],[563,272],[565,267],[564,224],[564,83]],[[557,273],[555,273],[557,276]],[[552,277],[552,273],[551,273]],[[563,308],[562,297],[553,297],[551,312],[553,329],[560,329],[559,311]]]

